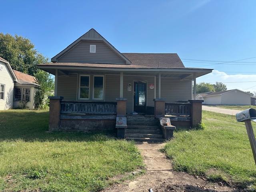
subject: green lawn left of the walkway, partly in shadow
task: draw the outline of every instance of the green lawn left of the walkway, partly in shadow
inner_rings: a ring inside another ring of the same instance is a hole
[[[0,191],[98,191],[143,166],[134,143],[48,130],[48,111],[0,111]]]

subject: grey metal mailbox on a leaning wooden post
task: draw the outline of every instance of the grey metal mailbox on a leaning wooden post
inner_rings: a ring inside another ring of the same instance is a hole
[[[238,122],[244,122],[246,126],[246,131],[252,148],[252,154],[254,157],[254,162],[256,164],[256,140],[252,129],[251,120],[256,122],[256,110],[253,108],[246,109],[236,114],[236,120]]]

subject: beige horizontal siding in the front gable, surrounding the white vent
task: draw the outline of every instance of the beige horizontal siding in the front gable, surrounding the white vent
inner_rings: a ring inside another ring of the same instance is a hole
[[[96,45],[96,53],[90,53],[90,45]],[[126,62],[110,49],[104,42],[82,41],[78,43],[70,51],[66,52],[58,62],[108,62],[122,63]]]

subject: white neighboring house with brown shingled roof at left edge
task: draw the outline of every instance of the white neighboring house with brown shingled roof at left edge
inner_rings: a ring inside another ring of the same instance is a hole
[[[9,62],[0,57],[0,110],[19,108],[23,99],[27,101],[28,109],[34,109],[38,88],[34,76],[12,70]]]

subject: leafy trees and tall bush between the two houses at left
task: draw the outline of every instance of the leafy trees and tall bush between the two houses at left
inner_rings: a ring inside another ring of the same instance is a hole
[[[48,95],[54,92],[54,80],[48,72],[37,65],[49,62],[49,58],[39,53],[34,44],[22,36],[0,33],[0,57],[10,63],[14,70],[36,77],[40,89],[35,94],[36,109],[48,106]]]

